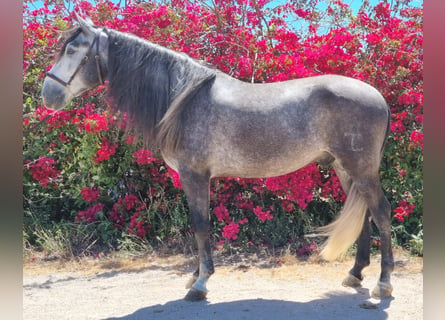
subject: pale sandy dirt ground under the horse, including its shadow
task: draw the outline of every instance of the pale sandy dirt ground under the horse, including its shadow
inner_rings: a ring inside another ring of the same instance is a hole
[[[379,256],[358,289],[341,286],[352,258],[324,263],[233,256],[215,258],[207,300],[187,302],[182,298],[193,258],[34,258],[24,262],[23,319],[423,319],[423,261],[401,251],[395,259],[393,297],[382,301],[370,298]]]

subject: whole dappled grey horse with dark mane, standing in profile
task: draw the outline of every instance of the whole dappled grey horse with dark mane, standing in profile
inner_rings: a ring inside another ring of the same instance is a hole
[[[179,173],[199,257],[186,300],[206,299],[214,273],[210,179],[273,177],[312,162],[331,166],[347,195],[336,220],[320,230],[328,237],[322,258],[334,260],[357,241],[343,285],[360,286],[373,221],[382,259],[372,296],[391,296],[391,206],[379,178],[390,112],[378,90],[340,75],[247,83],[134,35],[81,17],[78,24],[46,75],[43,102],[60,109],[108,81],[109,104]]]

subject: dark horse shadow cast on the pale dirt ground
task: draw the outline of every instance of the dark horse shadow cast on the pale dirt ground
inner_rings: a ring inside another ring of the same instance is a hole
[[[252,299],[211,303],[211,301],[187,302],[176,300],[163,305],[142,308],[122,317],[106,318],[105,320],[388,319],[385,309],[390,306],[392,299],[385,299],[373,304],[368,301],[368,298],[369,295],[359,292],[356,294],[332,292],[322,299],[309,302]]]

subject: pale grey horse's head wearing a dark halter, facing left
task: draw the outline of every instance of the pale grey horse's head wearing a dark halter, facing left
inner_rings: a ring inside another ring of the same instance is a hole
[[[80,27],[69,33],[43,83],[43,101],[50,108],[63,108],[72,98],[102,84],[107,73],[107,34],[77,19]]]

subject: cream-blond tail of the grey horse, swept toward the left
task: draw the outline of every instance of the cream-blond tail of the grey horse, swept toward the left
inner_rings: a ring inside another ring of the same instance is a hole
[[[363,228],[367,206],[354,183],[351,184],[346,202],[338,218],[318,230],[329,238],[322,246],[321,256],[328,261],[346,253],[357,240]]]

